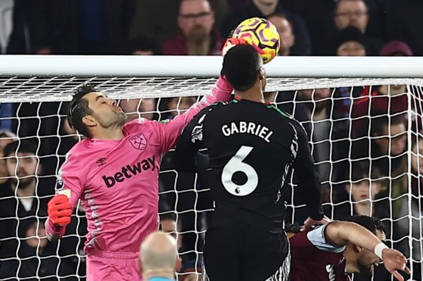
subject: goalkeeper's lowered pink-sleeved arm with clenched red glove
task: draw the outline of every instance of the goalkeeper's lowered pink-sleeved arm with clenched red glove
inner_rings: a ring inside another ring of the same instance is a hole
[[[45,233],[48,240],[56,240],[62,237],[66,231],[66,225],[71,221],[72,212],[82,194],[83,184],[78,170],[81,161],[69,153],[57,176],[56,195],[50,199],[47,205],[48,218],[45,221]]]

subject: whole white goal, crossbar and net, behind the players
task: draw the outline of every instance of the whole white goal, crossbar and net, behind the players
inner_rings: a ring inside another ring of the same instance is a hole
[[[326,215],[380,218],[412,280],[423,280],[423,63],[412,59],[278,57],[266,65],[265,98],[307,131]],[[128,120],[161,121],[204,95],[220,64],[219,57],[0,57],[0,280],[85,280],[82,207],[58,242],[47,242],[43,227],[58,169],[81,138],[65,122],[78,86],[93,83],[119,100]],[[162,228],[178,239],[178,280],[200,280],[210,185],[204,174],[178,173],[172,157],[161,165]],[[287,222],[307,217],[302,192],[291,176]],[[391,277],[380,266],[374,280]]]

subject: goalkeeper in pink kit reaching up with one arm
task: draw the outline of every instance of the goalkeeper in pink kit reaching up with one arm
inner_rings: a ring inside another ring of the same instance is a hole
[[[211,93],[169,123],[134,120],[93,87],[78,89],[68,108],[70,125],[87,138],[68,153],[48,203],[47,237],[60,238],[78,200],[87,216],[88,281],[141,280],[139,247],[158,229],[162,155],[205,107],[227,101],[232,87],[220,77]]]

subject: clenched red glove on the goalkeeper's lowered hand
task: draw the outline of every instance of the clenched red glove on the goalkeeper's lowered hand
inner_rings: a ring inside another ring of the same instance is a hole
[[[69,198],[64,194],[57,194],[48,201],[47,213],[54,225],[65,226],[70,223],[72,207]]]

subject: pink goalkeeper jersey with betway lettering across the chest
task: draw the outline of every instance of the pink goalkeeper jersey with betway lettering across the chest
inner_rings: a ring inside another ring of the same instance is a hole
[[[69,151],[58,183],[71,190],[72,208],[81,199],[88,221],[86,254],[139,251],[144,238],[158,229],[162,155],[175,146],[198,112],[227,101],[231,92],[232,87],[219,78],[212,93],[169,123],[134,120],[124,125],[122,140],[84,139]],[[47,220],[46,233],[60,237],[65,227]]]

